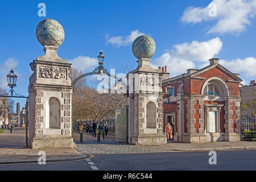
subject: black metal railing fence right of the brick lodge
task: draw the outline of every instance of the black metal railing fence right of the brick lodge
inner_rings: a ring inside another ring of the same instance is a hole
[[[255,117],[241,117],[241,134],[243,138],[256,138]]]

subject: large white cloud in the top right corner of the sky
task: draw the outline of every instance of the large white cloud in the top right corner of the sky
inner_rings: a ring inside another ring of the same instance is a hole
[[[216,20],[217,23],[210,28],[208,33],[226,32],[240,35],[251,24],[256,12],[256,0],[213,0],[207,7],[187,7],[181,21],[186,23],[200,23]],[[216,16],[210,16],[216,7]]]

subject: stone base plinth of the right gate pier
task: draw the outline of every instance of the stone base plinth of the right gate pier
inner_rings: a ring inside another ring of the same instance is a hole
[[[142,145],[166,144],[167,139],[164,134],[139,134],[131,137],[130,143]]]

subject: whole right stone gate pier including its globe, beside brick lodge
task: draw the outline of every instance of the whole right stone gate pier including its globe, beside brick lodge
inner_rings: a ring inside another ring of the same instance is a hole
[[[150,65],[155,42],[142,35],[134,40],[133,53],[138,67],[128,73],[129,105],[128,142],[133,144],[166,144],[163,134],[163,72]]]

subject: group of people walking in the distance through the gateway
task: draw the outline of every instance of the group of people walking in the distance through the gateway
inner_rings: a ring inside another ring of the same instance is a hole
[[[91,125],[88,125],[88,123],[79,125],[79,123],[76,123],[73,126],[75,131],[82,130],[83,132],[87,133],[88,135],[92,135],[92,137],[96,137],[96,130],[100,130],[101,135],[108,135],[109,132],[109,126],[108,124],[103,124],[103,123],[97,123],[93,121]]]

